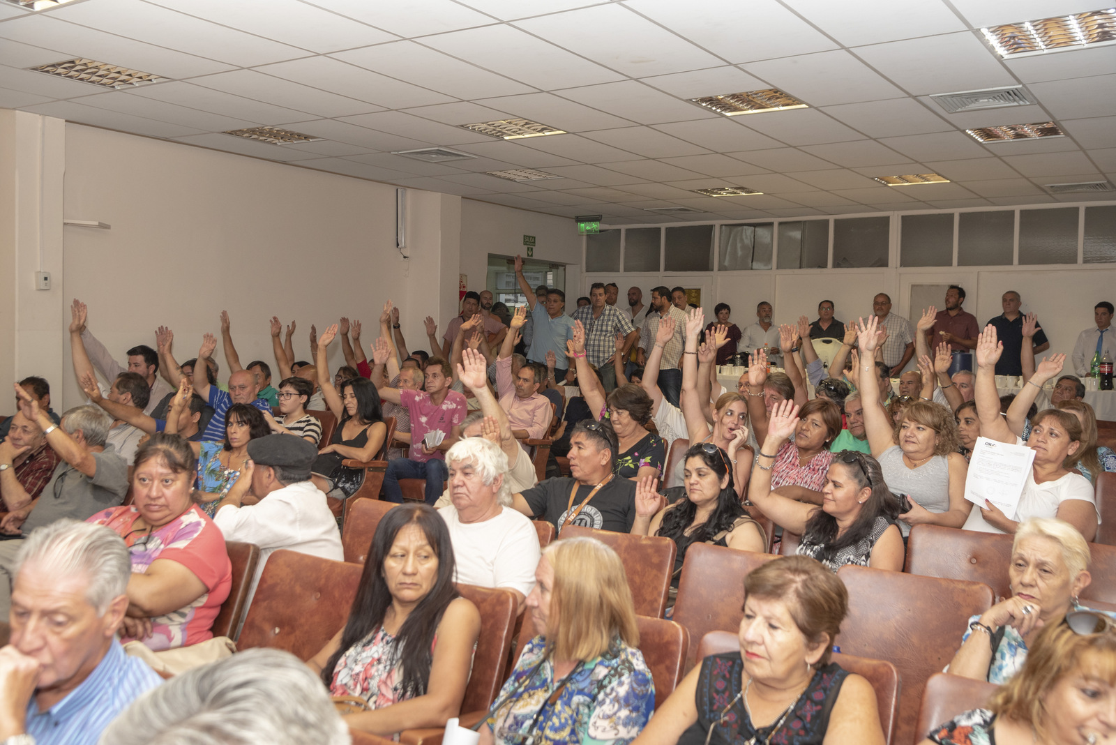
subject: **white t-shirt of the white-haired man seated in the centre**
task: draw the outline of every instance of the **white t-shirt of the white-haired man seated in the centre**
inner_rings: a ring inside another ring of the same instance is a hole
[[[437,511],[450,529],[456,561],[454,581],[482,588],[508,588],[526,598],[535,587],[539,534],[527,515],[501,507],[480,523],[462,523],[452,504]]]

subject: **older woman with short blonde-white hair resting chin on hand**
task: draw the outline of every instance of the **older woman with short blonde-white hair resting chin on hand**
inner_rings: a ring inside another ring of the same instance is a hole
[[[1069,523],[1035,519],[1019,525],[1011,544],[1011,597],[969,619],[946,673],[1004,684],[1022,668],[1039,631],[1090,610],[1078,601],[1089,586],[1089,544]]]

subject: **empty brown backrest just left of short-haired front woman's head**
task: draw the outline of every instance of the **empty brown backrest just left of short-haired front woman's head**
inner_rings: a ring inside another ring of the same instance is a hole
[[[686,549],[679,597],[671,617],[690,631],[686,667],[696,659],[698,642],[710,631],[735,631],[743,618],[744,577],[778,557],[694,543]]]

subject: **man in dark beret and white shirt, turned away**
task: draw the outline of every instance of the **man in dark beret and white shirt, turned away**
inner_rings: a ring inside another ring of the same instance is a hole
[[[251,484],[258,502],[242,504],[243,488],[231,488],[217,506],[213,522],[227,541],[260,546],[260,564],[248,590],[248,602],[276,549],[343,561],[337,519],[326,495],[310,481],[310,464],[318,448],[301,437],[268,435],[248,443],[248,462],[237,482]]]

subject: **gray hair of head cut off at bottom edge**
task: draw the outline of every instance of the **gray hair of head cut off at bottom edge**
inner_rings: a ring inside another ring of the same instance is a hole
[[[348,727],[310,668],[249,649],[153,688],[116,717],[102,745],[349,745]]]

